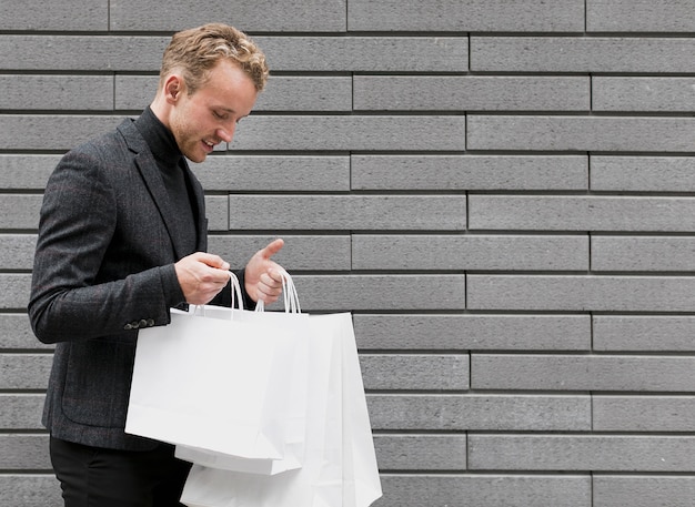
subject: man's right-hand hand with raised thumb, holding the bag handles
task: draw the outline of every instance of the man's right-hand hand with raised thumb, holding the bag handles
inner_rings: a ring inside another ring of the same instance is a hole
[[[244,288],[251,298],[255,302],[262,301],[271,304],[278,301],[282,294],[282,276],[280,275],[280,265],[270,257],[275,255],[284,241],[275,240],[268,246],[259,250],[246,264],[244,271]]]

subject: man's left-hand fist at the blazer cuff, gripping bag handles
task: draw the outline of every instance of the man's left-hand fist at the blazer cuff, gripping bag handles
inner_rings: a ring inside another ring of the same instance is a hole
[[[230,281],[229,263],[209,253],[183,257],[174,268],[185,301],[192,305],[209,303]]]

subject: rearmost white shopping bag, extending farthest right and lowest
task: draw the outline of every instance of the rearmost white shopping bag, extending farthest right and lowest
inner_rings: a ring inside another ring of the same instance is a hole
[[[261,476],[194,465],[189,507],[366,507],[382,495],[350,314],[309,317],[309,394],[299,469]]]

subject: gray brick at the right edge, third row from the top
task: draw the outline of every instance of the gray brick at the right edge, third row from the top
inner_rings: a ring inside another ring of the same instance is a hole
[[[592,79],[594,111],[689,112],[695,109],[695,78]]]

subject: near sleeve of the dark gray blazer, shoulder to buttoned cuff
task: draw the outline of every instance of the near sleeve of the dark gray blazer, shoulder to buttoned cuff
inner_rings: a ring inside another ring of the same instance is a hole
[[[114,237],[117,222],[137,214],[119,219],[124,203],[108,169],[94,153],[73,151],[47,185],[28,307],[41,342],[134,339],[133,327],[168,324],[169,308],[184,300],[164,256],[114,260],[114,242],[128,241]]]

